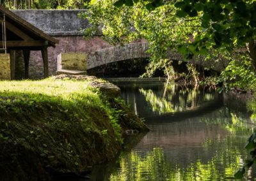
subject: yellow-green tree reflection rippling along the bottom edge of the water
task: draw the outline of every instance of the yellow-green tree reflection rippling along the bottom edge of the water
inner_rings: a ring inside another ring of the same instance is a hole
[[[154,148],[145,154],[131,152],[122,156],[119,170],[109,180],[234,180],[239,164],[241,156],[236,149],[222,149],[206,163],[198,160],[182,168],[166,161],[162,148]]]

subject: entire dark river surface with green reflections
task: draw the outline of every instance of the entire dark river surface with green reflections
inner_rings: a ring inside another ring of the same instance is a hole
[[[243,165],[253,120],[234,95],[163,82],[115,82],[150,128],[125,150],[93,168],[92,180],[234,180]],[[253,180],[255,170],[244,180]]]

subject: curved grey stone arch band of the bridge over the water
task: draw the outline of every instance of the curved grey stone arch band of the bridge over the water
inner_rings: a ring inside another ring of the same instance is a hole
[[[124,46],[103,48],[101,50],[91,52],[87,55],[86,69],[96,68],[111,62],[125,61],[137,58],[148,58],[150,55],[146,53],[147,50],[148,43],[130,43]],[[192,64],[197,64],[204,68],[213,69],[218,72],[223,71],[223,69],[225,69],[227,66],[226,62],[205,61],[204,57],[201,57],[198,60],[185,60],[184,57],[179,53],[170,53],[168,56],[169,59],[175,61],[185,61]]]

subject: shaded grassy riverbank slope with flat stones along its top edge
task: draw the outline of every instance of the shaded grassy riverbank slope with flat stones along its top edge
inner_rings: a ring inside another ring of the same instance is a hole
[[[47,98],[35,101],[24,94],[24,101],[15,101],[0,94],[1,180],[49,180],[52,170],[84,171],[118,156],[127,130],[148,131],[118,98],[120,89],[112,83],[93,76],[60,75],[54,79],[89,81],[89,89],[104,105],[81,103],[79,106],[87,109],[77,112],[78,106],[65,110],[61,103],[45,101]]]

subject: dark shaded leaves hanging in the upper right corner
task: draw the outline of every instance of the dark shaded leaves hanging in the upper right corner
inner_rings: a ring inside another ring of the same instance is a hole
[[[233,50],[255,37],[255,1],[179,1],[175,7],[189,17],[199,15],[204,31],[192,45]]]

